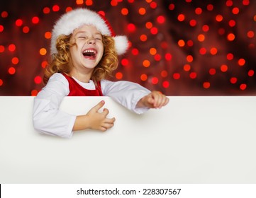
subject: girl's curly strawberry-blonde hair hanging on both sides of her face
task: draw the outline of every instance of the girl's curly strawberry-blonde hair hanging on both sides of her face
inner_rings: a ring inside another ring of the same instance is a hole
[[[57,54],[52,54],[50,64],[45,69],[45,74],[43,76],[43,82],[46,84],[50,76],[55,73],[65,73],[69,75],[72,69],[72,64],[70,64],[70,52],[69,49],[75,43],[71,42],[72,34],[70,35],[60,35],[56,40]],[[104,45],[104,53],[99,64],[94,68],[91,75],[91,80],[101,81],[101,79],[109,78],[112,72],[118,66],[118,55],[115,50],[115,43],[113,37],[108,35],[102,35],[102,42]]]

